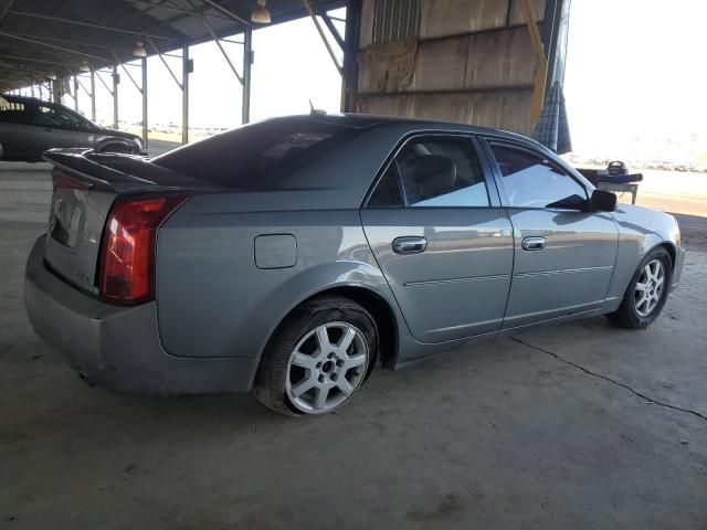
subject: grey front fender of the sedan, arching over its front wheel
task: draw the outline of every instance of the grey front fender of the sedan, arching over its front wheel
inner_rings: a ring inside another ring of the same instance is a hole
[[[643,257],[657,245],[667,243],[676,250],[680,242],[677,223],[667,213],[622,203],[613,216],[619,227],[619,253],[606,304],[618,306]]]

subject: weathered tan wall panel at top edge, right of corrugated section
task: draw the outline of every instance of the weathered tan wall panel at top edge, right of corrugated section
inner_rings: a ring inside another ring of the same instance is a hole
[[[420,36],[457,35],[506,25],[508,0],[422,0]]]

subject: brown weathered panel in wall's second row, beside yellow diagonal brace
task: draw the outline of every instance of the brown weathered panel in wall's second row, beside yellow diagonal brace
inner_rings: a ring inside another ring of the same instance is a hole
[[[466,88],[532,84],[537,57],[526,28],[467,39]]]

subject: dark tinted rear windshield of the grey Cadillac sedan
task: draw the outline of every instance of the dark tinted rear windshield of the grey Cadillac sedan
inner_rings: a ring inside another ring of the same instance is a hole
[[[306,118],[273,119],[224,132],[154,160],[172,171],[235,189],[275,187],[295,169],[356,134]]]

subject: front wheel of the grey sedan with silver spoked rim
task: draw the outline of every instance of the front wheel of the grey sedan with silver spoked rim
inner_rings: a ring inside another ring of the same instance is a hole
[[[662,283],[655,279],[658,275]],[[647,328],[665,306],[672,278],[673,259],[669,253],[663,246],[654,248],[646,254],[631,278],[619,309],[606,317],[623,328]]]

